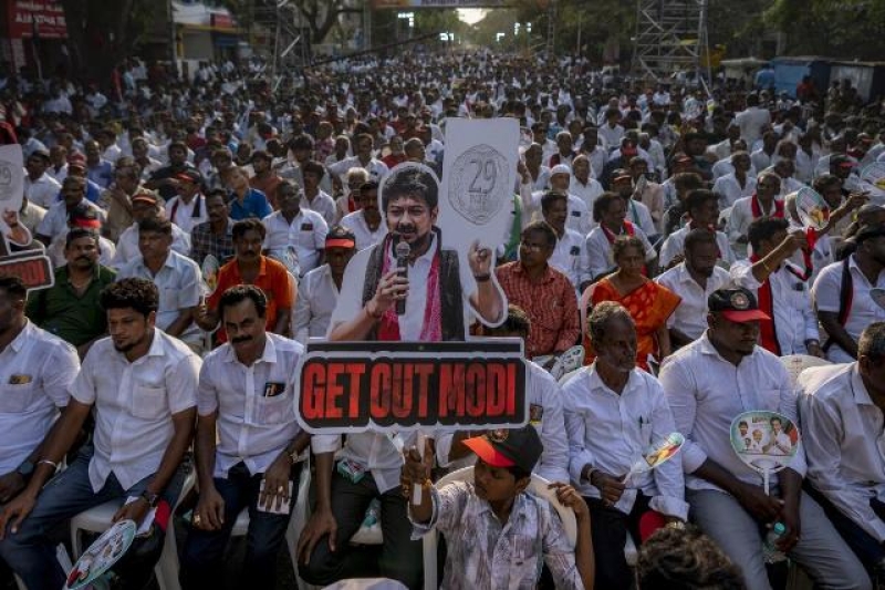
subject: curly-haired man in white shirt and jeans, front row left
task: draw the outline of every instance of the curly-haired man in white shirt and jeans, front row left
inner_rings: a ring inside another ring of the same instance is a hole
[[[200,359],[155,329],[158,300],[157,288],[145,279],[116,282],[102,292],[111,337],[90,349],[28,487],[0,514],[0,557],[30,590],[54,590],[65,581],[48,531],[106,501],[122,505],[115,521],[132,519],[136,525],[165,503],[157,510],[160,516],[152,517],[156,520],[150,531],[163,546],[168,515],[185,479],[181,459],[194,433]],[[43,487],[91,414],[93,443]],[[123,505],[127,498],[133,501]],[[136,555],[138,547],[132,551]],[[157,558],[156,551],[136,558],[117,573],[142,587]]]

